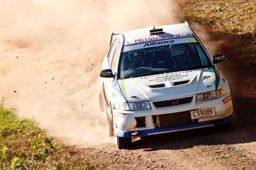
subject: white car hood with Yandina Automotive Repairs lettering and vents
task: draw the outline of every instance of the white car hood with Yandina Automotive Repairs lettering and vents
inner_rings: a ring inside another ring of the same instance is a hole
[[[179,98],[217,89],[212,67],[128,78],[118,83],[128,102]]]

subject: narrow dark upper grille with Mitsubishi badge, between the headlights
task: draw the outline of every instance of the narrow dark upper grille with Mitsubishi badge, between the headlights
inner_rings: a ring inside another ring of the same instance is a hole
[[[157,108],[163,108],[163,107],[168,107],[168,106],[176,106],[179,104],[191,103],[192,99],[193,99],[193,97],[185,97],[185,98],[168,100],[168,101],[157,101],[157,102],[153,102],[153,104]]]

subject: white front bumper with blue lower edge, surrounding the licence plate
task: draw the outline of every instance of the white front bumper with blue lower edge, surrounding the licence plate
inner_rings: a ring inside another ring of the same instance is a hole
[[[139,110],[133,112],[113,110],[114,135],[119,137],[131,137],[147,136],[150,134],[161,134],[175,131],[186,131],[188,129],[197,129],[202,127],[210,127],[217,124],[226,124],[232,119],[231,115],[233,113],[233,106],[230,94],[226,94],[223,97],[200,103],[196,103],[195,99],[196,97],[194,96],[191,103],[163,108],[156,108],[151,102],[150,105],[152,106],[152,110]],[[230,100],[224,102],[225,99]],[[191,120],[190,111],[202,108],[215,108],[216,115],[214,117]],[[180,114],[184,112],[187,112],[184,116]],[[166,119],[167,122],[172,122],[170,125],[156,125],[155,115],[172,115],[173,113],[176,115],[178,113],[179,118],[169,117]],[[136,120],[138,117],[144,118],[144,126],[138,126],[138,120]],[[182,120],[188,120],[189,122],[182,122]],[[176,121],[179,123],[176,124]]]

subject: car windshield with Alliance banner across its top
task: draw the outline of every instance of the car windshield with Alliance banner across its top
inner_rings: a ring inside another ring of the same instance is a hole
[[[175,40],[153,41],[124,46],[119,64],[120,79],[211,67],[196,40],[192,38],[188,43],[186,39],[184,43],[177,39],[178,43]]]

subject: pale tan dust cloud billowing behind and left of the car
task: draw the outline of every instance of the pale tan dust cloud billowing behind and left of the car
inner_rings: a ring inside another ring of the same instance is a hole
[[[182,17],[173,13],[184,1],[150,4],[156,25]],[[147,1],[2,0],[0,16],[6,106],[68,144],[109,143],[98,104],[100,66],[112,31],[152,27]]]

